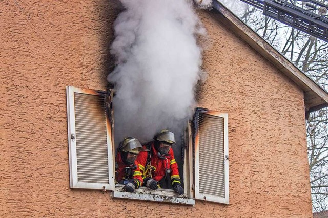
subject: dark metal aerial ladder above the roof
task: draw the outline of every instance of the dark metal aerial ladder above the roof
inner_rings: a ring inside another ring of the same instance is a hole
[[[240,0],[288,26],[328,42],[328,5],[316,0]],[[217,1],[213,1],[213,6]]]

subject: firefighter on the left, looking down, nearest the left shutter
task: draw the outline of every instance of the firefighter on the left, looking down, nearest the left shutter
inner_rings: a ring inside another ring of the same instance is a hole
[[[125,191],[133,192],[139,188],[142,182],[140,171],[135,164],[140,151],[144,150],[140,142],[133,138],[125,138],[118,146],[115,158],[115,180],[116,183],[124,184]]]

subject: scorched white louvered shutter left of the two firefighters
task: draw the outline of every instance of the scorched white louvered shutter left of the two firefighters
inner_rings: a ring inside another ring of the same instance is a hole
[[[104,91],[67,87],[71,188],[115,187],[109,101]]]

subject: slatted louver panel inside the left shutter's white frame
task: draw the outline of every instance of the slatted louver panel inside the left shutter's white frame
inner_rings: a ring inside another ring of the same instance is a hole
[[[74,93],[77,180],[109,183],[105,97]]]

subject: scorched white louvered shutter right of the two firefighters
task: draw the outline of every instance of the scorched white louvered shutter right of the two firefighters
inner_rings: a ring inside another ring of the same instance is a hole
[[[229,204],[228,115],[199,113],[195,137],[195,198]]]

